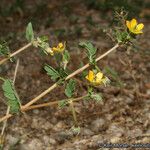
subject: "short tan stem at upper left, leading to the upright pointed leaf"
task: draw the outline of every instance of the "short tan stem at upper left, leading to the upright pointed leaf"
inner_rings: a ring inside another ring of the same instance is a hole
[[[32,43],[29,43],[25,46],[23,46],[22,48],[18,49],[17,51],[15,51],[14,53],[10,54],[9,57],[14,57],[15,55],[19,54],[20,52],[24,51],[25,49],[27,49],[28,47],[30,47],[32,45]],[[0,61],[0,65],[2,65],[3,63],[5,63],[7,60],[9,60],[8,58],[4,58]]]

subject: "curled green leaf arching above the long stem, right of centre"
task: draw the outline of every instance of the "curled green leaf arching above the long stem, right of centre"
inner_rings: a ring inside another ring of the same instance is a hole
[[[95,64],[95,56],[96,56],[97,48],[95,48],[91,42],[80,42],[79,46],[87,50],[87,56],[89,58],[89,62],[91,64]]]

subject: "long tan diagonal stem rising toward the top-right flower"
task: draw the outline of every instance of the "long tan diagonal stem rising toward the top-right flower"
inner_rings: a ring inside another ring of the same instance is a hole
[[[105,52],[104,54],[100,55],[97,59],[96,62],[101,60],[102,58],[104,58],[105,56],[107,56],[109,53],[113,52],[114,50],[116,50],[119,47],[119,44],[116,44],[114,47],[112,47],[110,50],[108,50],[107,52]],[[74,77],[75,75],[81,73],[83,70],[87,69],[90,66],[90,64],[86,64],[85,66],[81,67],[80,69],[76,70],[75,72],[71,73],[70,75],[68,75],[66,77],[66,80]],[[25,111],[29,106],[31,106],[32,104],[34,104],[35,102],[37,102],[39,99],[41,99],[42,97],[44,97],[46,94],[48,94],[49,92],[51,92],[53,89],[55,89],[57,87],[57,83],[53,84],[51,87],[49,87],[47,90],[45,90],[44,92],[42,92],[40,95],[38,95],[37,97],[35,97],[34,99],[32,99],[30,102],[28,102],[27,104],[25,104],[24,106],[21,107],[21,111]],[[8,119],[12,117],[12,114],[8,114],[2,118],[0,118],[0,122]]]

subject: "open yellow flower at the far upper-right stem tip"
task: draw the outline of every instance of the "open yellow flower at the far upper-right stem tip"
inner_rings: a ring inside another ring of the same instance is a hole
[[[144,24],[138,24],[136,19],[132,19],[131,21],[126,21],[126,26],[128,27],[129,31],[134,34],[143,33],[142,29],[144,28]]]

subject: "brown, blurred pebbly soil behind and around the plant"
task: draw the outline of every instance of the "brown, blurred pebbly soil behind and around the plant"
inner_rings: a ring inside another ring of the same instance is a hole
[[[1,5],[4,4],[6,2],[2,1]],[[10,4],[11,1],[8,6]],[[110,11],[105,15],[110,18]],[[51,45],[67,41],[71,54],[69,68],[72,70],[79,68],[82,61],[87,62],[85,52],[78,47],[79,41],[92,41],[98,48],[97,55],[115,44],[102,32],[109,25],[102,12],[88,9],[82,1],[27,0],[22,9],[19,6],[9,15],[0,17],[0,36],[9,42],[12,51],[27,43],[24,31],[30,20],[33,21],[36,35],[48,35]],[[102,102],[91,100],[74,104],[81,129],[79,135],[71,130],[74,122],[68,107],[35,109],[9,119],[4,149],[102,150],[104,148],[101,148],[101,144],[110,142],[150,143],[150,23],[146,18],[139,21],[145,27],[136,47],[119,48],[98,63],[102,70],[109,66],[118,72],[123,86],[118,86],[118,80],[110,77],[113,84],[96,89],[103,94]],[[43,66],[45,63],[55,66],[55,63],[52,57],[42,56],[33,47],[19,54],[16,59],[20,63],[15,86],[21,103],[26,104],[53,84]],[[1,75],[12,79],[15,65],[7,62],[0,68]],[[79,82],[76,96],[84,95],[84,81],[79,76],[76,79]],[[64,87],[60,86],[38,103],[63,98],[66,98]],[[2,90],[0,102],[0,115],[3,116],[7,106]]]

